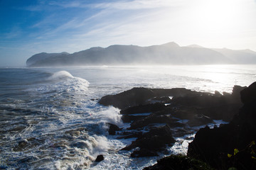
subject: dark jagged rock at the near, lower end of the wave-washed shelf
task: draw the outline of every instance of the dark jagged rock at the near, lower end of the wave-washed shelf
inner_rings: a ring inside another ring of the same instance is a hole
[[[124,147],[122,150],[131,150],[139,147],[134,151],[132,157],[151,157],[156,156],[157,152],[166,149],[166,146],[174,145],[174,137],[168,125],[151,129],[133,141],[131,145]],[[154,154],[153,154],[154,152]]]

